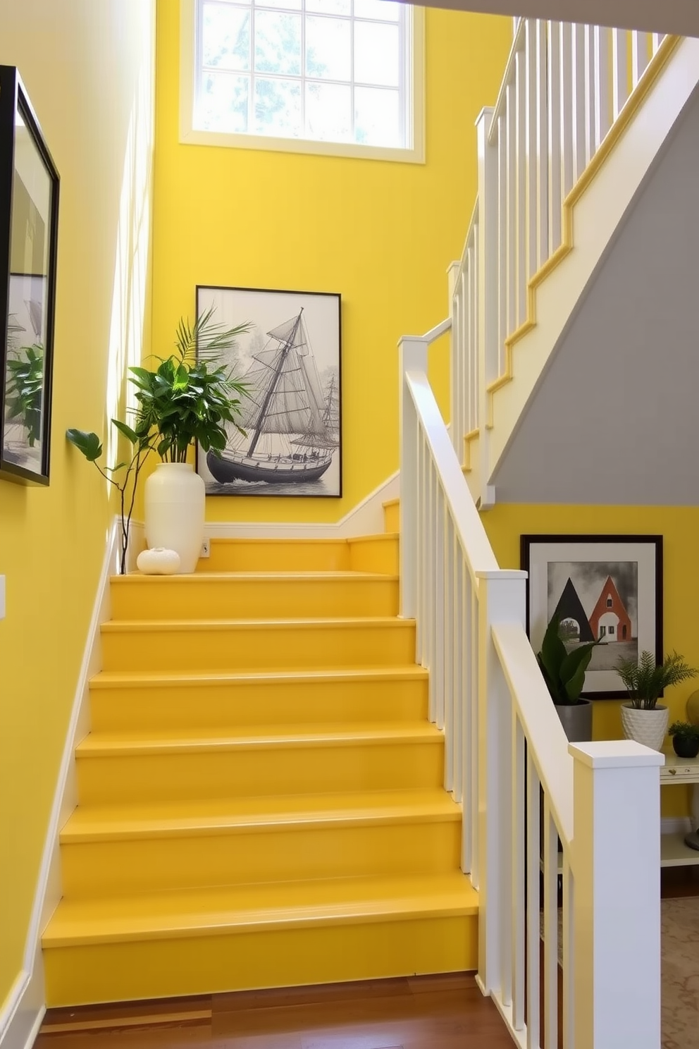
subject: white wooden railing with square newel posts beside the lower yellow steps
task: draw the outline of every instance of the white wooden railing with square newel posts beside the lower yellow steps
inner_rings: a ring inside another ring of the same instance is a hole
[[[462,805],[479,984],[526,1049],[559,1045],[560,1010],[564,1049],[659,1049],[662,757],[567,744],[525,634],[525,573],[498,568],[427,378],[449,327],[400,344],[400,603]]]

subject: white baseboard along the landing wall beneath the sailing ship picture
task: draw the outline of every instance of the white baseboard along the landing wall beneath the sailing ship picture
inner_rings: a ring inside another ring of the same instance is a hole
[[[210,539],[350,539],[357,535],[376,535],[384,531],[384,504],[400,494],[400,474],[394,473],[357,504],[348,514],[331,524],[302,524],[284,521],[206,521]],[[131,522],[129,571],[146,545],[143,521]]]

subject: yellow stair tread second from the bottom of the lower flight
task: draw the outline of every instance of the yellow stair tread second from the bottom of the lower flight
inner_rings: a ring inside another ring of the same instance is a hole
[[[92,806],[75,809],[61,831],[61,842],[460,818],[459,806],[439,789]]]

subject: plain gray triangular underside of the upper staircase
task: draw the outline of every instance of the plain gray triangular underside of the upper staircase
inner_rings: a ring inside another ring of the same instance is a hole
[[[592,277],[493,484],[499,502],[699,506],[697,92]]]

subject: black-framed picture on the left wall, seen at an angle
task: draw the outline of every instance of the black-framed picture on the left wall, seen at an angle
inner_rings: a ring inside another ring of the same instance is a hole
[[[16,66],[0,66],[0,478],[48,485],[59,173]]]

